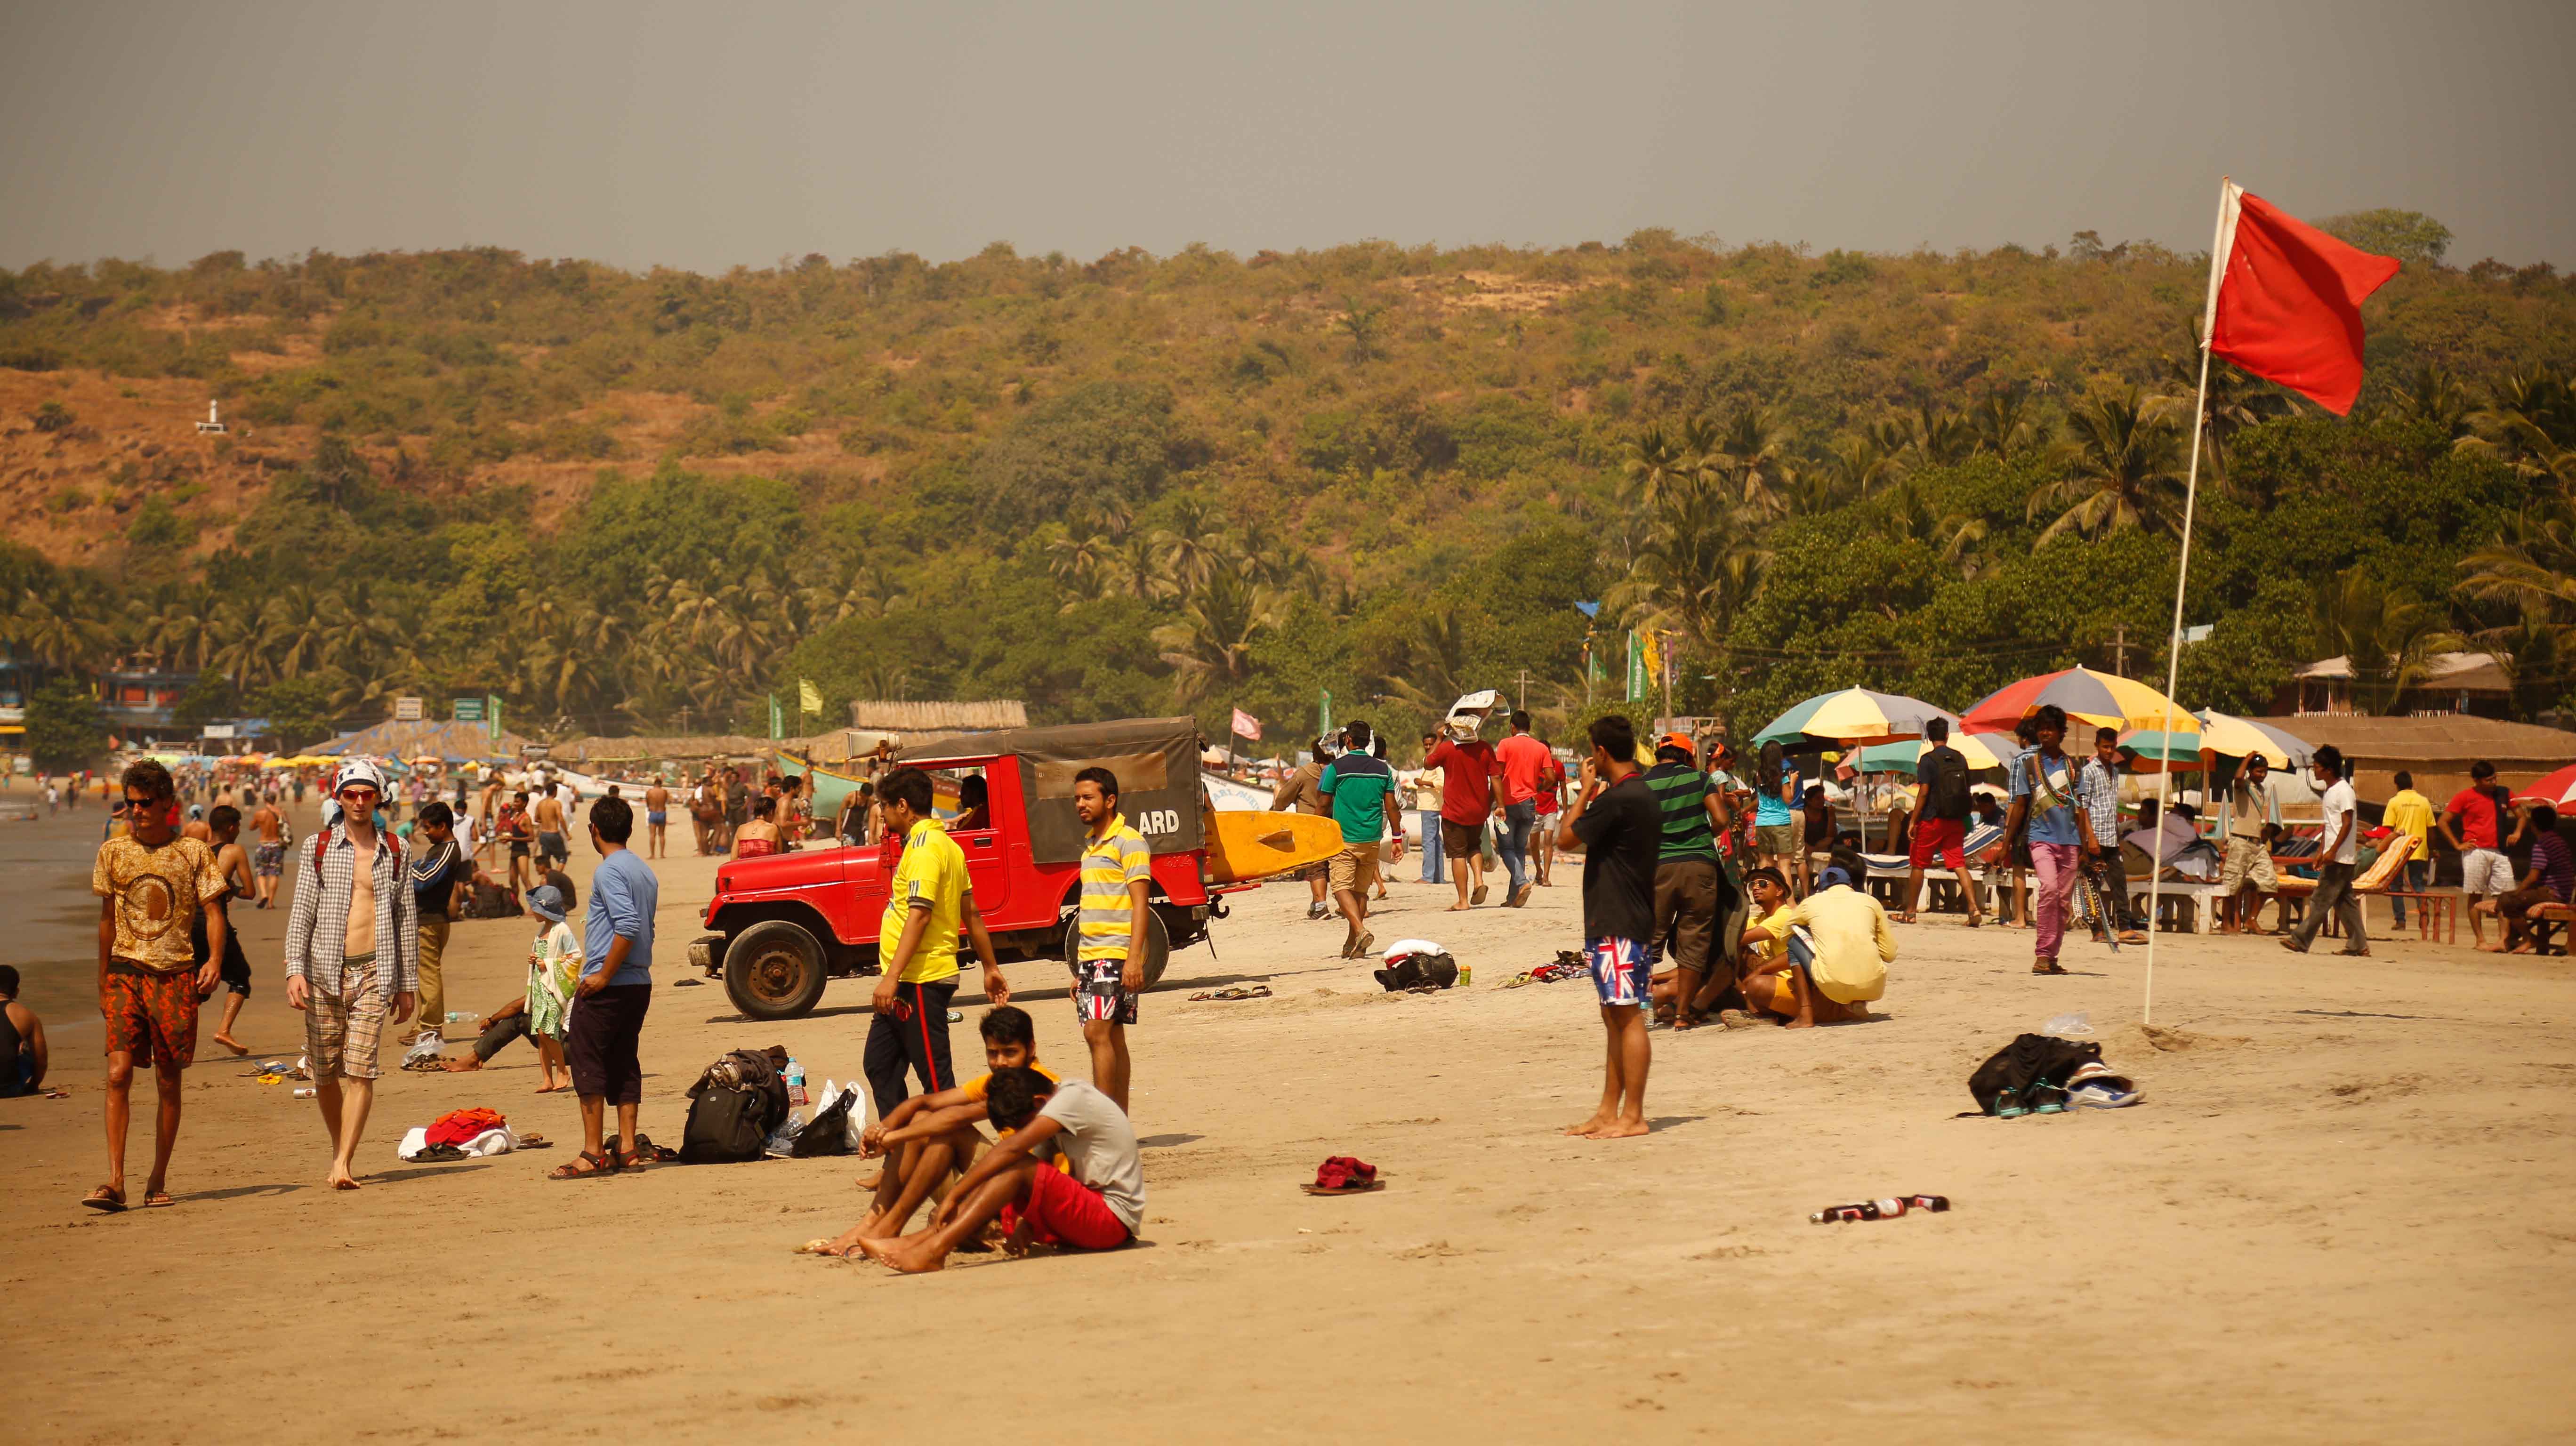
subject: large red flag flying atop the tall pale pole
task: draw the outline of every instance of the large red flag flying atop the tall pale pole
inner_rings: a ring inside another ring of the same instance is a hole
[[[2362,299],[2396,273],[2396,260],[2349,247],[2231,183],[2218,204],[2202,335],[2213,356],[2344,415],[2362,394]]]

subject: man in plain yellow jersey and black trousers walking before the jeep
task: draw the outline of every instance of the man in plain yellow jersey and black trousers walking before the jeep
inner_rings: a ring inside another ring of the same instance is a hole
[[[904,1103],[904,1067],[922,1077],[922,1093],[956,1085],[948,1067],[948,1000],[958,992],[958,928],[984,961],[984,998],[1010,1003],[1010,982],[992,956],[992,936],[974,907],[966,851],[930,815],[930,773],[896,768],[886,776],[886,827],[904,835],[894,863],[886,918],[876,925],[876,1016],[860,1065],[876,1095],[876,1116]]]

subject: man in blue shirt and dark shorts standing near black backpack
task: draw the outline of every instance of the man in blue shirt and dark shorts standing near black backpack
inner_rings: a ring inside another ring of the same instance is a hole
[[[652,1008],[652,912],[662,902],[662,882],[626,848],[634,827],[626,799],[600,799],[590,809],[590,848],[600,851],[600,866],[590,874],[582,985],[564,1039],[572,1093],[582,1098],[582,1152],[554,1170],[564,1181],[647,1165],[636,1137],[636,1106],[644,1103],[636,1041]],[[605,1144],[616,1157],[600,1139],[611,1101],[618,1106],[618,1134]]]

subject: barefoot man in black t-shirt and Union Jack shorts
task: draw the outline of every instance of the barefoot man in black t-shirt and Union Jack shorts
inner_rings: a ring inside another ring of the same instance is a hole
[[[1584,1139],[1646,1134],[1646,941],[1654,938],[1654,863],[1664,815],[1636,768],[1636,727],[1613,714],[1592,719],[1592,758],[1582,789],[1556,833],[1558,848],[1584,848],[1584,961],[1610,1036],[1602,1103],[1566,1129]]]

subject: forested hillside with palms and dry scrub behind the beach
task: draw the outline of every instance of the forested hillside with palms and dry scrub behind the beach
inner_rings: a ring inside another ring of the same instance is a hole
[[[2571,701],[2576,286],[2450,265],[2421,217],[2339,229],[2409,263],[2370,384],[2336,420],[2218,366],[2184,701],[2259,709],[2331,652],[2385,696],[2460,639],[2514,655],[2524,711]],[[1960,706],[2123,644],[2161,673],[2202,284],[2092,235],[1669,232],[0,271],[5,626],[314,729],[502,693],[556,732],[757,732],[811,678],[832,719],[1239,704],[1278,742],[1321,688],[1399,729],[1471,686],[1579,714],[1587,629],[1615,691],[1631,624],[1682,711]]]

